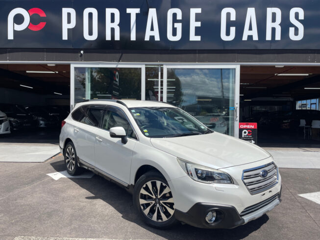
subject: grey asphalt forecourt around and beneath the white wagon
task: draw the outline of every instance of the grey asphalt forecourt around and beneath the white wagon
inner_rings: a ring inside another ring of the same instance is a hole
[[[0,240],[320,239],[320,204],[299,196],[320,192],[320,169],[280,168],[281,204],[246,225],[170,230],[145,225],[123,188],[89,173],[56,173],[64,170],[62,155],[44,163],[0,163]]]

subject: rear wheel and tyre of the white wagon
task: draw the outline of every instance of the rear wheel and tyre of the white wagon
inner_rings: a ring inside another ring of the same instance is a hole
[[[69,142],[65,147],[64,152],[65,165],[67,172],[72,175],[78,175],[82,172],[82,168],[78,167],[77,155],[73,142]]]

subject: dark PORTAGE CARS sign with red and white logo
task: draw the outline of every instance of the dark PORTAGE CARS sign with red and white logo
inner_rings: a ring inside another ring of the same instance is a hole
[[[3,0],[0,46],[320,49],[319,9],[313,0]]]

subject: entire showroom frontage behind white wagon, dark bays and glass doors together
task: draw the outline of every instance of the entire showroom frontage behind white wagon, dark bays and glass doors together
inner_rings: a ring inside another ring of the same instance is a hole
[[[87,99],[166,101],[231,136],[239,122],[257,122],[260,146],[320,140],[318,66],[47,63],[1,64],[0,72],[12,132],[1,142],[57,143],[61,121]]]

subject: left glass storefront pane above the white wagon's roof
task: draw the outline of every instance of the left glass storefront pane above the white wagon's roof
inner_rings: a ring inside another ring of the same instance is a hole
[[[74,68],[74,103],[85,99],[141,100],[141,68]]]

